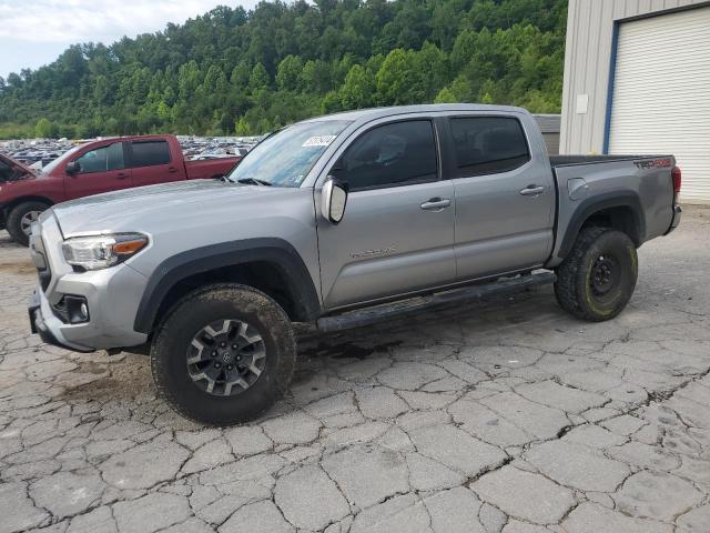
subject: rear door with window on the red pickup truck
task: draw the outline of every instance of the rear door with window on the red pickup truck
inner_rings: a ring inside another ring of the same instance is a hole
[[[164,139],[134,140],[129,145],[134,187],[185,179],[182,153],[172,153]]]

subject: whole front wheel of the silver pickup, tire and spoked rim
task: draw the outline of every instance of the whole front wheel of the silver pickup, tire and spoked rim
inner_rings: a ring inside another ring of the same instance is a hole
[[[150,356],[158,392],[175,411],[225,426],[255,419],[283,395],[296,341],[288,316],[266,294],[214,284],[171,310]]]

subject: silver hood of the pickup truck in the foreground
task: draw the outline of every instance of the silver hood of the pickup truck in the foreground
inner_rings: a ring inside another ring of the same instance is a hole
[[[122,231],[152,231],[200,213],[236,211],[256,199],[288,194],[294,189],[191,180],[124,189],[71,200],[52,208],[64,237]]]

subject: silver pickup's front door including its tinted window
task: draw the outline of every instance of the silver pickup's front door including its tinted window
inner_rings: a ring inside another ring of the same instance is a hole
[[[317,218],[326,308],[454,280],[454,189],[442,180],[436,139],[428,118],[379,123],[331,170],[349,194],[339,224]]]

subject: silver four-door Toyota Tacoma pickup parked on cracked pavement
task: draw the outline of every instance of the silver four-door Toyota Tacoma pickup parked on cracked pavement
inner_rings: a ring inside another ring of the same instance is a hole
[[[534,118],[471,104],[305,120],[224,180],[100,194],[33,225],[33,331],[150,352],[187,418],[233,424],[288,386],[294,322],[338,330],[555,283],[616,316],[637,249],[680,221],[671,155],[549,158]]]

